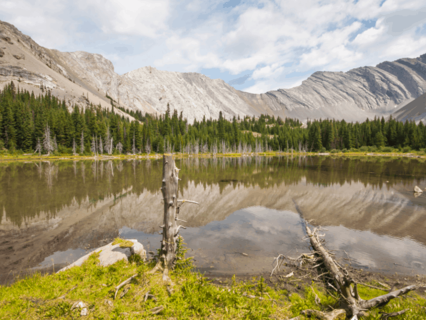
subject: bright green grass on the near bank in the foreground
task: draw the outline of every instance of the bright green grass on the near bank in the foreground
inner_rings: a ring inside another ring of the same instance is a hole
[[[15,281],[11,286],[0,287],[0,319],[80,319],[80,310],[72,309],[75,302],[83,301],[89,310],[84,319],[288,319],[298,316],[301,310],[330,311],[338,308],[338,296],[330,295],[322,286],[312,283],[303,294],[289,294],[266,286],[264,279],[253,277],[238,282],[236,277],[227,286],[219,286],[207,280],[203,274],[193,272],[191,258],[184,258],[185,248],[179,243],[179,257],[175,270],[170,274],[174,283],[170,294],[161,274],[149,274],[154,262],[143,263],[130,259],[109,267],[98,266],[99,254],[93,254],[81,266],[60,274],[33,274]],[[122,281],[138,274],[129,284],[115,289]],[[120,294],[127,290],[120,298]],[[321,304],[315,303],[315,293]],[[144,301],[150,291],[155,299]],[[359,287],[364,299],[385,293],[382,290]],[[264,299],[249,298],[247,293]],[[65,295],[65,296],[63,296]],[[107,303],[112,302],[112,306]],[[425,299],[415,293],[393,300],[383,308],[385,312],[405,308],[411,311],[394,319],[420,319],[425,317]],[[150,311],[163,306],[157,315]],[[379,310],[373,310],[365,319],[379,319]],[[420,318],[419,318],[420,317]],[[339,318],[343,319],[344,315]],[[305,319],[302,317],[302,319]]]

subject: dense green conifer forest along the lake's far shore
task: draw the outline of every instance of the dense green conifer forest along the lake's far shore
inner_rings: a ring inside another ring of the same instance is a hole
[[[249,153],[263,151],[332,150],[362,146],[426,147],[422,122],[375,118],[363,123],[344,120],[308,121],[262,115],[226,120],[195,120],[191,125],[176,110],[164,115],[142,115],[120,108],[130,122],[100,105],[83,110],[52,96],[20,90],[11,82],[0,91],[0,149],[59,153]]]

